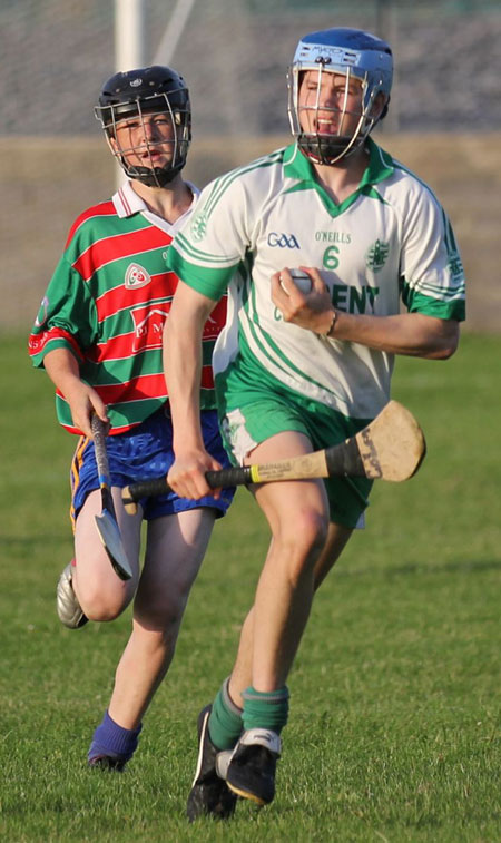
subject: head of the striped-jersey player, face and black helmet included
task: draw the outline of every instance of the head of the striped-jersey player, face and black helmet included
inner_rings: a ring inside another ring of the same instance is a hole
[[[105,84],[95,115],[129,178],[165,187],[185,166],[191,140],[189,94],[170,68],[116,73]],[[169,160],[159,167],[153,156],[166,149],[170,150]]]

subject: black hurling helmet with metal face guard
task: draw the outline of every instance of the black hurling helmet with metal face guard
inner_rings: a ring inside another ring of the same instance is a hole
[[[126,160],[126,154],[130,153],[141,157],[145,157],[145,151],[147,156],[151,155],[153,141],[148,141],[147,133],[140,146],[127,149],[118,146],[116,149],[110,144],[112,154],[129,178],[149,187],[165,187],[185,166],[191,140],[189,91],[183,77],[169,67],[155,65],[115,73],[105,82],[94,112],[108,144],[110,138],[117,141],[117,124],[120,120],[137,117],[143,121],[145,114],[168,115],[175,131],[171,140],[164,141],[173,147],[171,160],[164,167],[155,167],[151,157],[149,167],[135,166]]]

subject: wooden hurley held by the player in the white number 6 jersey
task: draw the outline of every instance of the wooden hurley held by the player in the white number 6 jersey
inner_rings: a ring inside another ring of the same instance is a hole
[[[412,413],[390,401],[366,428],[337,445],[262,465],[207,471],[205,477],[212,489],[342,476],[401,482],[415,474],[425,453],[424,435]],[[169,489],[165,478],[126,486],[126,511],[134,514],[141,498],[166,494]]]

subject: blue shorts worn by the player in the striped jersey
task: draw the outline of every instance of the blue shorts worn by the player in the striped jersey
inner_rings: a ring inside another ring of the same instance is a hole
[[[223,468],[230,465],[223,448],[215,410],[202,412],[202,431],[208,453]],[[137,480],[166,477],[174,462],[173,423],[168,404],[126,433],[108,437],[106,440],[111,486],[124,488]],[[71,463],[71,520],[75,520],[89,492],[99,489],[94,442],[81,437]],[[188,509],[210,507],[216,518],[224,516],[232,503],[235,489],[222,489],[217,500],[212,496],[199,500],[178,498],[175,492],[155,498],[143,498],[140,506],[147,521],[161,516],[171,516]]]

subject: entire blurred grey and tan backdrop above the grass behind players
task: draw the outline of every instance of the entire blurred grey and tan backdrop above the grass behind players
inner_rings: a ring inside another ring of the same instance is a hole
[[[120,2],[120,0],[117,0]],[[186,3],[185,3],[186,6]],[[200,186],[287,141],[285,71],[302,35],[355,26],[386,38],[396,75],[377,139],[439,193],[470,276],[468,325],[501,324],[500,0],[193,0],[165,45],[175,0],[144,0],[145,63],[186,78],[187,175]],[[29,330],[66,233],[114,189],[92,115],[115,71],[112,0],[1,0],[0,329]]]

